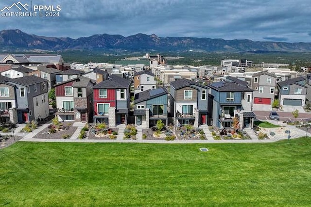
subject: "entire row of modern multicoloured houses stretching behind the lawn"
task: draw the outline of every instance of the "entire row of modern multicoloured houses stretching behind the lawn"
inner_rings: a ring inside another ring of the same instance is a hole
[[[134,111],[130,111],[132,80],[117,75],[108,77],[100,69],[88,73],[57,71],[52,73],[55,82],[48,80],[42,71],[22,76],[12,71],[4,73],[0,80],[2,122],[46,118],[50,83],[50,88],[55,88],[55,116],[60,120],[106,123],[109,127],[128,124],[131,115],[136,125],[144,127],[163,120],[177,126],[207,124],[225,128],[232,126],[235,117],[239,118],[240,127],[252,127],[256,118],[254,104],[271,105],[278,97],[281,105],[303,106],[311,84],[310,74],[307,79],[298,77],[276,83],[275,75],[262,71],[246,81],[228,76],[225,81],[202,85],[179,79],[166,88],[156,84],[152,72],[143,70],[134,75]]]

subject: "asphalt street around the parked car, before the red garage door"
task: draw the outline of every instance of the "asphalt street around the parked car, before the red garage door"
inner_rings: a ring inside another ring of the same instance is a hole
[[[298,118],[294,118],[291,112],[283,112],[283,111],[276,111],[280,116],[280,121],[302,121],[303,119],[311,119],[311,113],[299,113]],[[256,114],[256,118],[260,120],[270,120],[269,113],[270,111],[254,111]]]

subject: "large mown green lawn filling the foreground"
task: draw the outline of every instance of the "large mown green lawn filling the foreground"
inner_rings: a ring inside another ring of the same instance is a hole
[[[207,147],[209,152],[200,152]],[[0,206],[311,206],[311,139],[25,143],[0,150]]]

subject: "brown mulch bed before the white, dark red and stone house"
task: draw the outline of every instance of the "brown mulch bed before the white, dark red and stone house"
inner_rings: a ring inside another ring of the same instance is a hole
[[[78,127],[72,127],[74,122],[62,122],[63,126],[66,127],[65,130],[56,131],[56,133],[48,134],[49,128],[45,128],[39,133],[37,133],[34,139],[63,139],[64,134],[69,134],[70,136],[77,130]]]

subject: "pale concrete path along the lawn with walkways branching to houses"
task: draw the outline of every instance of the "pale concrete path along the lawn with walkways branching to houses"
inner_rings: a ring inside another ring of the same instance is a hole
[[[295,139],[298,137],[304,137],[306,136],[306,131],[303,131],[299,128],[296,128],[295,126],[290,126],[283,124],[282,122],[278,121],[270,121],[273,124],[281,125],[283,127],[287,127],[291,133],[291,139]],[[208,130],[207,125],[202,125],[200,128],[203,129],[204,133],[206,134],[207,140],[174,140],[174,141],[165,141],[165,140],[143,140],[142,139],[142,128],[138,128],[138,134],[136,140],[124,140],[124,126],[118,126],[119,132],[116,140],[89,140],[89,139],[77,139],[78,135],[81,131],[81,128],[83,126],[78,126],[77,130],[73,133],[73,135],[70,137],[70,139],[34,139],[33,137],[39,133],[44,128],[48,127],[50,124],[44,124],[43,126],[40,126],[39,128],[35,129],[33,132],[30,133],[20,133],[17,132],[15,135],[23,136],[20,141],[29,141],[29,142],[63,142],[63,143],[69,143],[69,142],[78,142],[78,143],[272,143],[276,142],[278,140],[286,140],[287,135],[279,135],[276,134],[275,136],[269,136],[271,139],[267,140],[259,140],[257,136],[254,134],[254,131],[252,129],[244,129],[249,136],[252,138],[251,140],[214,140],[211,136],[210,131]],[[22,125],[18,125],[22,128]],[[77,126],[77,125],[73,125]],[[16,131],[18,128],[16,129]],[[273,128],[271,129],[273,130]],[[10,132],[11,133],[11,132]],[[3,135],[5,135],[3,133]],[[310,133],[309,133],[310,136]]]

